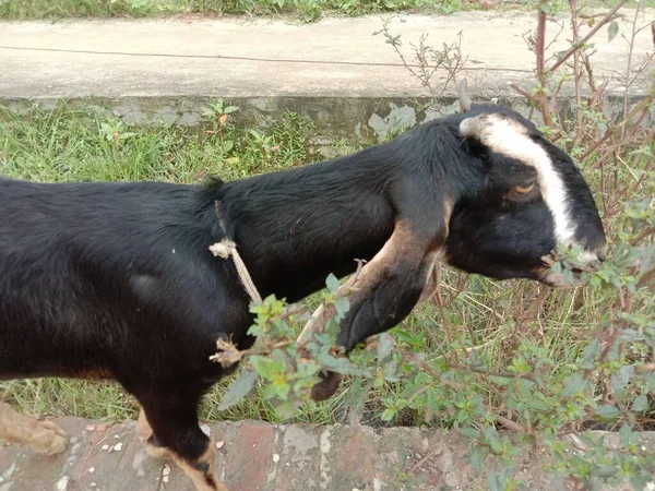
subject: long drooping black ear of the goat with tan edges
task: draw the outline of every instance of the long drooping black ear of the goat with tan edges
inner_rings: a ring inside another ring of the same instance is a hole
[[[336,292],[337,296],[352,292],[350,310],[341,323],[336,339],[346,351],[367,337],[398,324],[438,286],[437,265],[445,255],[452,204],[445,200],[434,206],[434,201],[427,200],[420,201],[417,206],[414,195],[425,185],[426,182],[420,181],[409,187],[408,199],[397,202],[405,203],[405,206],[397,206],[403,218],[396,219],[394,231],[384,247]],[[410,206],[407,207],[406,203]],[[327,309],[321,306],[298,340],[333,314],[333,306]],[[312,387],[311,398],[324,400],[331,397],[341,380],[342,376],[334,372],[322,374],[321,381]]]

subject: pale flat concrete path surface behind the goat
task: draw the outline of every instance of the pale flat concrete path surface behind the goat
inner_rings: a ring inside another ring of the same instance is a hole
[[[621,34],[633,13],[619,19],[619,36],[594,39],[598,75],[610,75],[628,56]],[[653,21],[655,10],[640,15]],[[563,20],[563,17],[562,17]],[[0,101],[58,97],[381,97],[427,92],[382,35],[382,16],[324,19],[314,24],[284,21],[180,16],[157,21],[0,22]],[[453,43],[463,33],[469,86],[476,95],[502,97],[510,80],[529,86],[534,55],[522,36],[535,15],[471,12],[450,16],[401,14],[390,23],[401,34],[407,62],[409,41],[428,33],[428,43]],[[564,23],[564,27],[567,25]],[[548,27],[549,40],[560,31]],[[583,29],[582,34],[585,34]],[[567,48],[568,29],[549,52]],[[634,55],[653,50],[651,29],[642,31]],[[440,74],[442,75],[442,74]],[[615,82],[619,87],[620,82]],[[645,89],[644,84],[644,89]],[[452,93],[452,92],[451,92]]]

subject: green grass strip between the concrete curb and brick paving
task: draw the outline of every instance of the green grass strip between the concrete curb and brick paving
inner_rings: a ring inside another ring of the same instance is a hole
[[[207,125],[193,130],[129,128],[118,120],[67,108],[58,112],[34,109],[28,118],[0,112],[0,175],[33,181],[200,182],[212,175],[231,180],[318,159],[308,143],[313,131],[309,121],[287,113],[265,131],[235,129],[229,124],[223,128],[217,117],[224,110],[221,104],[215,105],[214,111],[207,112]],[[592,172],[590,179],[594,187],[602,183],[597,173]],[[512,360],[519,343],[527,339],[563,367],[580,355],[591,339],[592,326],[615,301],[610,294],[597,289],[551,291],[540,321],[519,328],[514,322],[516,308],[529,307],[539,288],[535,283],[500,283],[472,276],[461,288],[460,279],[458,273],[446,268],[440,289],[443,310],[434,303],[425,304],[402,325],[422,339],[431,360],[466,349],[477,352],[489,370],[500,369]],[[278,421],[261,392],[218,412],[216,407],[230,380],[217,384],[204,399],[203,418]],[[293,421],[343,421],[349,394],[347,382],[344,387],[325,403],[303,406]],[[365,421],[386,424],[380,419],[383,400],[397,398],[402,391],[400,383],[385,383],[372,391],[364,409]],[[480,392],[485,400],[493,402],[491,391],[480,388]],[[138,410],[135,402],[111,383],[60,379],[12,381],[0,383],[0,393],[20,410],[37,415],[122,420],[134,418]],[[393,424],[450,422],[445,417],[430,420],[422,411],[404,409]]]

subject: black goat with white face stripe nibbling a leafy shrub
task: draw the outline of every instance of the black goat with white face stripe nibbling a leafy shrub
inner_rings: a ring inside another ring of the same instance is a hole
[[[221,219],[215,213],[218,203]],[[557,242],[604,259],[592,194],[571,158],[499,106],[424,123],[349,156],[210,185],[0,179],[0,379],[118,381],[140,434],[198,490],[225,490],[198,423],[226,374],[216,339],[254,342],[234,240],[263,296],[298,301],[370,260],[338,342],[398,324],[443,261],[496,278],[561,286]],[[0,404],[0,436],[56,453],[64,433]]]

